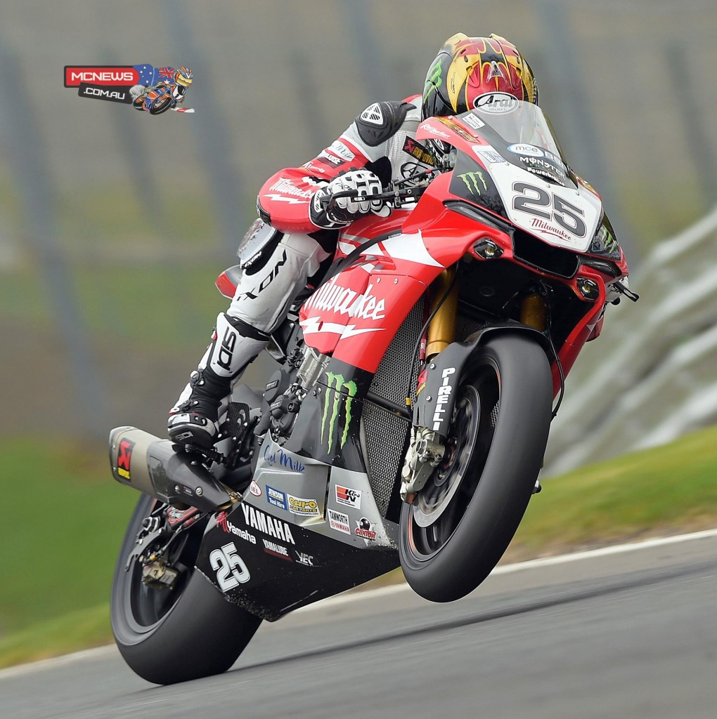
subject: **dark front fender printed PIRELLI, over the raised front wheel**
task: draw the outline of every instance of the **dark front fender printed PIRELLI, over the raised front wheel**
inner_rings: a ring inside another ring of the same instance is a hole
[[[426,367],[425,387],[413,407],[413,423],[428,427],[446,436],[456,399],[455,389],[464,376],[466,367],[479,349],[496,334],[530,333],[552,361],[553,351],[549,340],[537,329],[515,322],[484,327],[470,335],[464,342],[453,342],[430,360]]]

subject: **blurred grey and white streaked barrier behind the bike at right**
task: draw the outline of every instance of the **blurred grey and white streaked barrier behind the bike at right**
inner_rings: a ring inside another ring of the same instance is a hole
[[[715,247],[717,206],[631,276],[640,300],[608,308],[603,335],[569,375],[544,474],[717,422]]]

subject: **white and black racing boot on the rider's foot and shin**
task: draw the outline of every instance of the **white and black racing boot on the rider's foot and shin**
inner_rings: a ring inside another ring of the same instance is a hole
[[[219,433],[220,410],[227,406],[234,383],[268,343],[263,332],[220,313],[207,352],[169,411],[170,439],[212,447]]]

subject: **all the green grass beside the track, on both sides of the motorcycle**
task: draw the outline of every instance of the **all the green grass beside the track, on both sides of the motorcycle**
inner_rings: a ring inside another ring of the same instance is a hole
[[[112,641],[114,559],[137,495],[109,476],[104,446],[0,444],[6,512],[0,667]],[[717,526],[717,427],[554,477],[505,559]],[[400,571],[373,582],[400,581]]]

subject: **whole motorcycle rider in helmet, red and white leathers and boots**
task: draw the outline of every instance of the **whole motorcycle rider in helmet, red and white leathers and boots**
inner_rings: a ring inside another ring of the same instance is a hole
[[[209,448],[218,418],[245,367],[269,343],[294,297],[333,257],[338,230],[390,209],[371,196],[390,181],[436,165],[438,143],[415,139],[423,119],[465,112],[486,93],[510,93],[537,104],[533,72],[517,47],[498,35],[448,38],[431,63],[423,96],[369,105],[331,145],[299,168],[266,180],[258,194],[260,219],[240,248],[242,275],[189,384],[170,410],[168,434],[181,444]],[[358,198],[335,193],[358,191]]]

